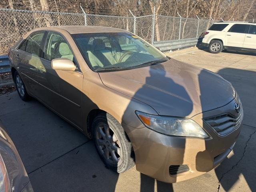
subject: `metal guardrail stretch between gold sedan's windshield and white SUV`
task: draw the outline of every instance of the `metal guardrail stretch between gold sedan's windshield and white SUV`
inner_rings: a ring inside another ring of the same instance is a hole
[[[170,51],[174,49],[181,49],[191,46],[200,45],[202,43],[202,38],[189,38],[189,39],[179,39],[171,41],[158,41],[154,42],[153,45],[160,51]]]

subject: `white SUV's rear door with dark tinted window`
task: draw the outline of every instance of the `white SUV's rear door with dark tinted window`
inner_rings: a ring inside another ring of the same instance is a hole
[[[234,24],[226,33],[226,46],[242,48],[247,29],[247,24]]]

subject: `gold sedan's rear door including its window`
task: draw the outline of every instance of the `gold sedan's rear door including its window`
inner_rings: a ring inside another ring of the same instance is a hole
[[[16,54],[19,66],[20,76],[24,81],[26,88],[32,94],[37,89],[36,72],[37,63],[41,54],[41,45],[44,38],[44,31],[38,31],[30,34],[22,42]]]

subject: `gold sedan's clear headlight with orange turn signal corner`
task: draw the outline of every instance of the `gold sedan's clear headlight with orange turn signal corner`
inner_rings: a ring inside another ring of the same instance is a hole
[[[136,114],[147,128],[165,135],[209,138],[203,128],[189,118],[150,115],[140,111]]]

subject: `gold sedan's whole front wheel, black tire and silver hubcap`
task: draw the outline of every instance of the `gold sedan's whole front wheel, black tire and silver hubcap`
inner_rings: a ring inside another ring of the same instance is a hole
[[[92,137],[107,168],[122,173],[134,166],[132,144],[121,124],[110,114],[101,113],[94,118]]]

